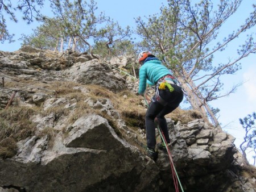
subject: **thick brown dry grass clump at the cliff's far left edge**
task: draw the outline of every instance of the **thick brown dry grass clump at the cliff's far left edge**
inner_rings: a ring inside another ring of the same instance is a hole
[[[0,157],[12,157],[16,142],[34,135],[35,124],[29,120],[35,110],[28,107],[10,107],[0,111]]]

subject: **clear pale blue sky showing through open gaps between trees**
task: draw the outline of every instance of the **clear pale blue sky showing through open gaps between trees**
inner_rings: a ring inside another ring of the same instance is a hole
[[[156,14],[159,12],[159,8],[162,3],[166,1],[154,1],[154,0],[96,0],[98,10],[104,11],[106,15],[110,16],[114,20],[117,20],[122,27],[127,25],[135,27],[134,18],[138,16],[147,16]],[[215,1],[214,1],[215,2]],[[237,27],[241,26],[243,21],[252,9],[253,1],[245,0],[236,14],[226,22],[226,24],[220,30],[221,38],[230,34]],[[47,9],[42,11],[44,14],[49,13]],[[6,16],[6,15],[5,15]],[[31,23],[27,25],[22,22],[22,19],[18,16],[18,23],[8,22],[7,26],[10,33],[15,34],[15,43],[0,44],[1,51],[15,51],[20,48],[20,41],[18,40],[21,34],[31,34],[32,29],[38,26],[38,23]],[[256,31],[254,27],[253,30]],[[254,35],[255,36],[255,35]],[[222,52],[214,56],[213,62],[225,62],[229,58],[236,57],[236,49],[239,44],[245,40],[245,36],[241,36],[236,39],[231,46],[226,48],[225,52]],[[235,144],[239,147],[242,142],[244,131],[239,124],[238,119],[245,117],[247,114],[251,114],[256,111],[256,56],[250,55],[241,61],[242,70],[239,70],[236,74],[227,76],[222,79],[224,82],[224,93],[229,90],[234,84],[245,82],[242,86],[238,87],[235,94],[229,95],[229,97],[218,99],[210,103],[213,107],[220,108],[218,120],[222,124],[224,131],[231,133],[236,137]]]

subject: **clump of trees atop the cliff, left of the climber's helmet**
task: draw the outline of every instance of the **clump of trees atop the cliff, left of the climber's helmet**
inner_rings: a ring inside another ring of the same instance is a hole
[[[94,1],[55,0],[51,7],[55,18],[44,16],[43,24],[34,30],[34,34],[23,35],[24,45],[58,49],[60,52],[64,48],[72,48],[73,51],[89,49],[94,56],[93,44],[100,42],[108,50],[108,55],[116,55],[116,45],[127,44],[130,39],[130,27],[123,29],[102,12],[97,14],[97,3]],[[56,45],[53,46],[52,40]]]

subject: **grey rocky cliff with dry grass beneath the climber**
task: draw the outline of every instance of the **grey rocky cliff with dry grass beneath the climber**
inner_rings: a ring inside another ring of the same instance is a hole
[[[0,191],[175,191],[168,156],[145,155],[146,106],[137,80],[118,70],[128,63],[0,51]],[[184,191],[255,191],[255,168],[232,135],[196,111],[167,121]]]

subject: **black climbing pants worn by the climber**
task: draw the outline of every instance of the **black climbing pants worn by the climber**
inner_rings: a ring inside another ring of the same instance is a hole
[[[167,143],[170,143],[170,137],[168,133],[166,118],[164,115],[174,111],[183,100],[183,91],[181,87],[173,85],[174,91],[170,92],[168,89],[159,90],[160,97],[166,102],[166,105],[161,105],[158,101],[151,102],[148,106],[146,114],[146,136],[147,136],[147,147],[155,149],[155,118],[158,120],[160,129],[163,131],[164,137]],[[156,97],[156,95],[154,96]],[[153,97],[153,98],[154,98]],[[156,100],[156,99],[155,99]]]

